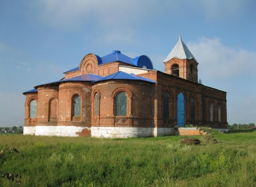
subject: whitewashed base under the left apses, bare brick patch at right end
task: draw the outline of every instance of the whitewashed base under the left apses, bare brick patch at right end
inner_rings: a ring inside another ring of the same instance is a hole
[[[90,127],[76,127],[76,126],[35,126],[23,127],[23,135],[36,136],[79,136],[82,131],[86,130],[87,135],[90,136]]]

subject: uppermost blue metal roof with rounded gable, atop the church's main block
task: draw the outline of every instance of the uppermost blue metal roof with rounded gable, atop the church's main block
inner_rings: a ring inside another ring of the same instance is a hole
[[[133,65],[139,68],[154,69],[150,58],[146,55],[137,56],[134,59],[132,59],[131,57],[122,54],[121,51],[115,50],[112,51],[112,53],[103,57],[99,57],[98,55],[95,56],[97,57],[98,65],[107,64],[114,61],[120,61],[125,64]],[[76,71],[78,69],[79,66],[68,71],[65,71],[64,73]]]

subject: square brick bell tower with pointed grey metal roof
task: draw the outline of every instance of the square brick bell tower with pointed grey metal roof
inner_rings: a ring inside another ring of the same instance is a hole
[[[165,73],[194,82],[198,81],[198,62],[189,51],[188,47],[181,40],[181,35],[178,42],[163,63],[165,64]]]

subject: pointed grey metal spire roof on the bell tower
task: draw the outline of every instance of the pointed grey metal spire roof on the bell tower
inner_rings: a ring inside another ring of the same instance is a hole
[[[163,62],[167,62],[174,57],[177,59],[194,59],[198,64],[197,60],[189,51],[188,47],[181,40],[181,35],[180,35],[179,41],[177,42],[177,44],[174,46],[172,51],[169,53],[169,55],[166,57],[166,59]]]

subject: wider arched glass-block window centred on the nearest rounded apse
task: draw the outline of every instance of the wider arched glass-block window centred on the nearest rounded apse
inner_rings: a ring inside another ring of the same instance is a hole
[[[127,116],[127,93],[118,92],[115,98],[115,105],[116,116]]]

